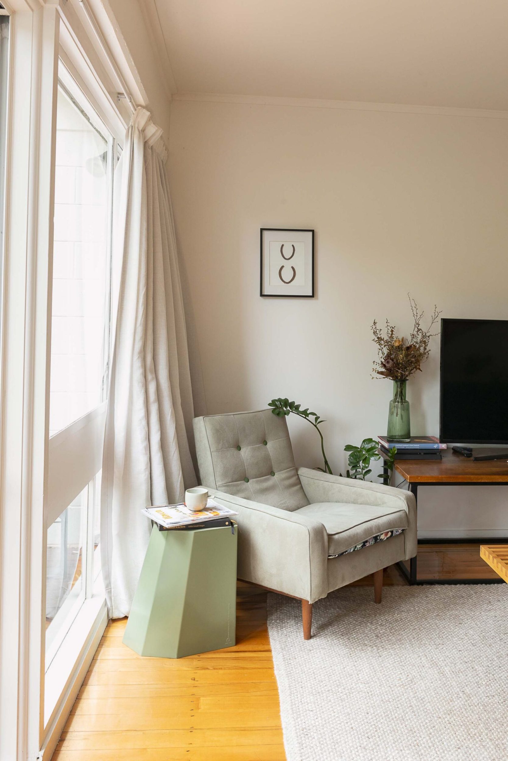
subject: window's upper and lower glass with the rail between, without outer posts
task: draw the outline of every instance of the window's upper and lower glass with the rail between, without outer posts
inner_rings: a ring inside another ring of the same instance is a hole
[[[101,457],[117,144],[60,65],[46,521],[45,718],[75,667],[75,624],[101,591]],[[91,616],[97,609],[92,607]]]

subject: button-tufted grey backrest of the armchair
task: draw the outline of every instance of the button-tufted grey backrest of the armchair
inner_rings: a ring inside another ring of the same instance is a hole
[[[308,505],[285,417],[261,409],[206,415],[193,426],[203,486],[283,510]]]

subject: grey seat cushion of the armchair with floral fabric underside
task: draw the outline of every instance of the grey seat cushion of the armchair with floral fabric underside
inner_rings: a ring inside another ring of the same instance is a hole
[[[328,534],[328,556],[341,555],[356,545],[366,546],[366,540],[386,531],[407,528],[405,510],[381,505],[315,502],[296,512],[324,525]]]

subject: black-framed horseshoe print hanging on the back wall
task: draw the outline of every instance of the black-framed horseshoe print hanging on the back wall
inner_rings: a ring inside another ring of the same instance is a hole
[[[314,230],[260,232],[260,296],[314,298]]]

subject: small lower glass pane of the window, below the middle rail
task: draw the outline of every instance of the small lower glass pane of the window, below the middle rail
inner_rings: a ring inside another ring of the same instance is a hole
[[[84,597],[88,486],[48,527],[46,555],[46,667]]]

